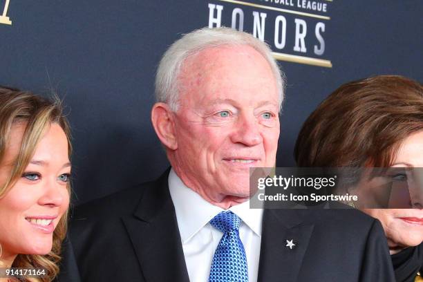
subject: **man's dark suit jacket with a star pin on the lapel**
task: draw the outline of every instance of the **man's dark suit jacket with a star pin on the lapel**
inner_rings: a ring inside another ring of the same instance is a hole
[[[189,281],[168,173],[77,208],[65,265],[78,270],[60,281]],[[395,281],[382,226],[354,209],[266,209],[261,242],[259,281]]]

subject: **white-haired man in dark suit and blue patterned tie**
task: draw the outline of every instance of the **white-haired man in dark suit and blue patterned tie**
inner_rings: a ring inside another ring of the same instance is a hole
[[[263,42],[229,28],[167,50],[151,121],[171,169],[77,209],[82,281],[393,281],[377,220],[250,209],[249,168],[276,162],[281,77]]]

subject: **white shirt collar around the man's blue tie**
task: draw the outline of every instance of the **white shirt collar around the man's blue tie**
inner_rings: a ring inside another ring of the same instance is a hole
[[[180,237],[182,243],[186,243],[223,209],[212,205],[194,190],[188,188],[173,169],[169,173],[168,182]],[[261,236],[263,209],[250,209],[250,201],[246,201],[230,207],[229,210],[239,216],[254,233]]]

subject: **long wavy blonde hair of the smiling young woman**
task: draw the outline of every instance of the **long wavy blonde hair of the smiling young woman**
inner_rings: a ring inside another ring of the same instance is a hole
[[[26,129],[10,176],[5,183],[0,183],[0,198],[6,195],[21,177],[35,152],[38,142],[50,124],[56,123],[62,127],[68,139],[68,156],[71,156],[71,132],[68,121],[62,114],[62,104],[57,97],[54,100],[48,100],[30,92],[0,86],[0,163],[3,161],[7,149],[12,126],[21,122],[26,124]],[[70,185],[68,185],[68,191],[71,193]],[[50,282],[57,276],[59,273],[58,263],[61,260],[62,241],[66,236],[67,220],[66,212],[53,232],[53,247],[48,254],[17,255],[12,267],[42,267],[47,270],[47,276],[40,279],[26,279],[26,281]]]

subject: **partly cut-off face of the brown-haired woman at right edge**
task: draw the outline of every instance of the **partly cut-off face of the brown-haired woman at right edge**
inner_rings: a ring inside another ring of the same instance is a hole
[[[408,136],[402,143],[393,167],[411,169],[403,178],[408,182],[411,205],[415,209],[364,209],[366,214],[379,219],[384,227],[391,253],[423,241],[423,131]],[[417,168],[417,169],[415,169]],[[414,174],[414,175],[413,175]],[[391,199],[393,201],[395,199]],[[408,203],[410,200],[408,200]]]

